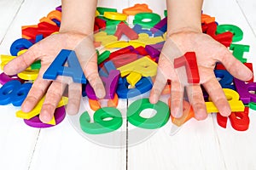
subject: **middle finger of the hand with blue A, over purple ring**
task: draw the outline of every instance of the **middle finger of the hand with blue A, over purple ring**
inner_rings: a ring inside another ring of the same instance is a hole
[[[47,123],[52,120],[55,114],[55,108],[61,101],[62,94],[67,84],[62,82],[52,82],[45,95],[44,104],[40,112],[40,120]]]

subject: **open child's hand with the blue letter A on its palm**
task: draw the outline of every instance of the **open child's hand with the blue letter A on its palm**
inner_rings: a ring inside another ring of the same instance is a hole
[[[68,105],[67,113],[75,114],[79,111],[81,84],[74,83],[70,77],[58,77],[57,81],[43,79],[46,71],[61,49],[75,50],[79,62],[84,71],[84,75],[90,82],[98,98],[105,96],[105,90],[102,80],[97,71],[97,56],[94,48],[92,37],[86,37],[84,34],[76,32],[65,32],[52,35],[41,42],[33,45],[25,54],[13,59],[5,65],[4,72],[8,75],[15,75],[24,71],[28,66],[38,59],[41,60],[41,69],[37,80],[32,85],[24,103],[21,106],[22,111],[32,111],[33,107],[38,104],[44,94],[46,94],[44,105],[40,113],[42,122],[49,122],[55,112],[55,108],[61,100],[61,96],[68,84]]]

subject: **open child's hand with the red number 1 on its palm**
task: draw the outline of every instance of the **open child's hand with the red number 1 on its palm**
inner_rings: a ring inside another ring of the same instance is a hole
[[[194,51],[200,74],[200,84],[207,90],[213,103],[223,116],[230,115],[230,105],[216,79],[213,69],[216,62],[221,62],[234,77],[247,81],[253,73],[239,60],[233,57],[228,48],[216,42],[206,34],[195,31],[180,31],[167,38],[159,59],[158,73],[150,94],[151,103],[156,103],[167,79],[172,80],[171,112],[172,116],[182,116],[183,87],[186,86],[189,102],[195,111],[195,118],[207,117],[207,109],[200,84],[184,85],[184,73],[173,68],[173,60],[186,52]]]

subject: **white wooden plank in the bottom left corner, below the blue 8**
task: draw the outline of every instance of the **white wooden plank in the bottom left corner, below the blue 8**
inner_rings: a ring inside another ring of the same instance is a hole
[[[18,108],[13,105],[0,110],[0,169],[28,169],[39,130],[15,117]]]

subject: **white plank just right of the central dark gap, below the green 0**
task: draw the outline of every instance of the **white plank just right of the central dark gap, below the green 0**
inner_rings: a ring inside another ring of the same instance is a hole
[[[161,100],[167,102],[167,98]],[[129,99],[129,105],[134,100]],[[173,126],[169,120],[164,127],[149,131],[128,123],[128,144],[132,145],[128,150],[128,169],[224,169],[211,115],[201,122],[192,119],[171,135]],[[133,144],[134,133],[148,133],[148,139]]]

